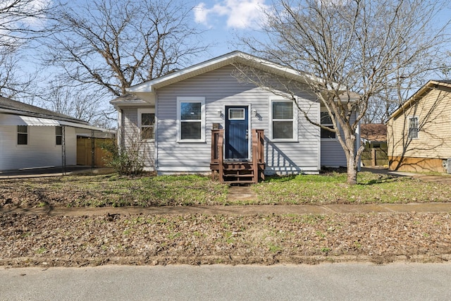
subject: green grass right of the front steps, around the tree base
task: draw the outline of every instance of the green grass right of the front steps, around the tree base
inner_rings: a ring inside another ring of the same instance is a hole
[[[449,202],[450,185],[361,172],[357,185],[345,173],[269,178],[254,185],[254,204],[369,204]]]

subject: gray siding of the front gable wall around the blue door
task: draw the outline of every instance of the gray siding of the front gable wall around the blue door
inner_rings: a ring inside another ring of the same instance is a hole
[[[317,172],[320,168],[319,128],[311,125],[298,112],[298,137],[295,142],[272,142],[269,134],[270,92],[250,84],[237,82],[231,75],[232,66],[213,70],[194,78],[168,85],[156,91],[157,171],[159,173],[208,172],[211,158],[211,128],[214,123],[224,127],[225,106],[249,106],[258,116],[249,116],[252,129],[265,130],[266,173]],[[309,116],[317,120],[319,106],[304,92],[297,94]],[[205,97],[205,142],[177,142],[177,97]],[[297,110],[296,110],[297,111]]]

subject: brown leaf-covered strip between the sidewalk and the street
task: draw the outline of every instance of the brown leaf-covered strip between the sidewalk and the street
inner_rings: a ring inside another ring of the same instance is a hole
[[[59,197],[65,195],[61,192]],[[22,208],[22,214],[15,208],[13,202],[1,206],[9,213],[0,214],[0,266],[384,264],[451,259],[450,212],[274,214],[271,206],[261,206],[258,213],[245,214],[246,206],[225,206],[208,213],[171,207],[177,209],[171,214],[132,210],[118,214],[111,208],[92,214],[91,208],[79,208],[77,214],[52,215],[52,208],[47,214],[42,214],[46,208]],[[224,211],[228,208],[233,213]]]

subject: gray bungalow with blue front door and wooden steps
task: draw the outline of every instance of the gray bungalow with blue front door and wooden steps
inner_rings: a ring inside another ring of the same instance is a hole
[[[295,82],[297,105],[278,90],[239,80],[237,66],[260,70],[281,85]],[[346,166],[335,134],[304,118],[306,112],[311,121],[333,127],[307,79],[233,51],[130,87],[130,95],[111,101],[118,111],[118,142],[127,147],[140,141],[147,168],[159,174],[211,171],[229,183]]]

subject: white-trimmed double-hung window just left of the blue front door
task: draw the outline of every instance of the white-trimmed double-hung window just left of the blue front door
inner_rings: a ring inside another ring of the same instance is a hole
[[[177,97],[178,141],[205,141],[205,98]]]

